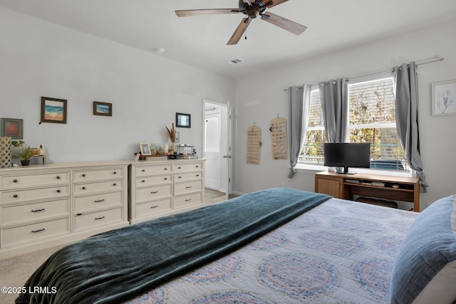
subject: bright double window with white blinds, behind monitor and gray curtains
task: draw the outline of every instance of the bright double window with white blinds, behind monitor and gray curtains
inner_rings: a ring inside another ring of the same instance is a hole
[[[349,142],[371,142],[371,168],[408,169],[395,125],[393,78],[348,85]],[[323,164],[323,127],[320,93],[311,91],[309,126],[299,163]]]

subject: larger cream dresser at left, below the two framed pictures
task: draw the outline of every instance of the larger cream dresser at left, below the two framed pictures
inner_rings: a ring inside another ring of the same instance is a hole
[[[129,163],[0,169],[0,258],[127,226]]]

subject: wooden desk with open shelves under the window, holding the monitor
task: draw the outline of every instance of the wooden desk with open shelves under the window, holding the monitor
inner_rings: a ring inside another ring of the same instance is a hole
[[[383,183],[384,186],[376,185],[377,183]],[[413,203],[413,211],[420,211],[420,179],[417,177],[323,171],[315,174],[315,192],[351,201],[353,195],[410,201]]]

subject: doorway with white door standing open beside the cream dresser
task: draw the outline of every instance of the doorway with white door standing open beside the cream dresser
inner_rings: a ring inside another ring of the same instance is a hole
[[[231,193],[231,139],[229,103],[203,100],[204,184],[207,189]]]

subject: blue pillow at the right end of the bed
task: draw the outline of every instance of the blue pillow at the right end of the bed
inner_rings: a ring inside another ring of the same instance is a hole
[[[450,220],[454,201],[456,196],[435,201],[410,226],[393,263],[391,303],[412,303],[442,270],[454,276],[456,234]],[[455,300],[456,281],[447,283],[438,293]]]

